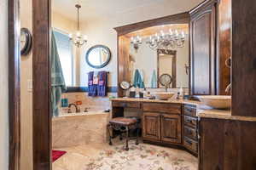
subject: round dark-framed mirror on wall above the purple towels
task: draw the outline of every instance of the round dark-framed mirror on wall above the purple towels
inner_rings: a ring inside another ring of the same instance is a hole
[[[110,49],[104,45],[91,47],[85,56],[86,62],[93,68],[100,69],[108,65],[111,59]]]

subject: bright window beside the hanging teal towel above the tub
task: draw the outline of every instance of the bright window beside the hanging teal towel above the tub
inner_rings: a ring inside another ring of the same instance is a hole
[[[55,30],[54,35],[66,86],[73,86],[73,44],[66,33]]]

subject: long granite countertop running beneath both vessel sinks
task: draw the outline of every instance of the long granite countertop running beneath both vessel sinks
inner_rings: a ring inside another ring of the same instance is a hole
[[[231,110],[212,109],[210,107],[207,107],[206,105],[201,105],[200,101],[195,101],[195,100],[188,100],[188,99],[160,100],[160,99],[140,99],[140,98],[115,98],[111,100],[112,101],[133,101],[133,102],[153,102],[153,103],[196,105],[196,115],[199,117],[256,122],[256,117],[232,116]]]

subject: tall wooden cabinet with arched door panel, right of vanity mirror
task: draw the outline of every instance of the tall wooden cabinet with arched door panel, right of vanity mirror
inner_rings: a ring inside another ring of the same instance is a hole
[[[230,94],[231,0],[207,0],[190,11],[190,88],[193,95]]]

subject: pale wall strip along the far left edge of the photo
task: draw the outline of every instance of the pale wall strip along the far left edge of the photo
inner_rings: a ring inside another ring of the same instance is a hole
[[[8,0],[0,1],[0,169],[8,170],[9,121],[8,121]]]

